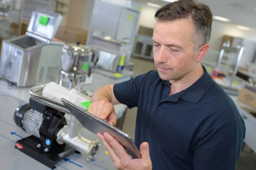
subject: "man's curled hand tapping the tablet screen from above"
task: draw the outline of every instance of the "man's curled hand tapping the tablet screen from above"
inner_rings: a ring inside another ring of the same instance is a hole
[[[116,112],[114,106],[110,102],[96,101],[90,104],[88,112],[99,119],[107,119],[110,125],[116,125]]]

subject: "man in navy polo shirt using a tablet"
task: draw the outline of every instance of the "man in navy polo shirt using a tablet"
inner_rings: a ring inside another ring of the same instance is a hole
[[[116,123],[113,105],[138,107],[135,143],[142,159],[131,159],[108,133],[99,138],[121,170],[235,170],[244,121],[200,63],[209,51],[209,7],[180,0],[158,9],[155,19],[157,71],[103,86],[89,107],[111,125]]]

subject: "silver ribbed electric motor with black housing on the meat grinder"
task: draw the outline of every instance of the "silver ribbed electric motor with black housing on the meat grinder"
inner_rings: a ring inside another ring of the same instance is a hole
[[[33,99],[29,100],[29,104],[22,105],[15,110],[14,120],[17,126],[40,138],[42,141],[40,145],[48,151],[52,143],[56,143],[59,130],[67,125],[64,113]]]

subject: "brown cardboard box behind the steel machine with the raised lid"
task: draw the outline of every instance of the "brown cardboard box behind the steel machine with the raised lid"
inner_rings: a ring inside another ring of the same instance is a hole
[[[66,43],[76,43],[79,41],[80,44],[85,45],[87,40],[87,33],[87,30],[61,26],[58,28],[55,38]]]

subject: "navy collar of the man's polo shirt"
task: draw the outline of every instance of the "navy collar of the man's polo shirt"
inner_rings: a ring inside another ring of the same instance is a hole
[[[186,88],[178,94],[174,94],[176,97],[178,95],[179,99],[183,99],[195,104],[199,102],[199,100],[204,96],[204,94],[214,82],[212,77],[207,73],[206,68],[203,65],[202,67],[204,69],[204,74],[189,88]],[[169,81],[163,80],[163,84],[168,85]]]

